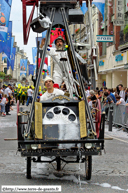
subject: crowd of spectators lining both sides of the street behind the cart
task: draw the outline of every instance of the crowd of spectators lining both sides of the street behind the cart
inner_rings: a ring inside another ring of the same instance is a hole
[[[57,84],[54,84],[54,88],[58,88]],[[66,86],[64,82],[61,87],[58,88],[62,91],[67,92]],[[26,91],[24,89],[20,89],[20,92],[15,93],[16,88],[12,87],[8,84],[7,87],[3,85],[0,88],[0,112],[2,116],[10,115],[10,110],[13,110],[12,106],[17,99],[21,101],[22,96],[22,104],[26,101],[26,106],[29,105],[29,102],[32,102],[34,90],[30,86]],[[40,90],[38,93],[37,101],[40,101],[40,97],[46,92],[46,87],[44,87],[43,91]],[[91,108],[95,107],[95,103],[97,99],[103,103],[103,107],[106,104],[116,103],[116,105],[126,105],[128,106],[128,88],[123,87],[122,84],[119,84],[116,88],[108,89],[104,88],[96,88],[96,90],[90,90],[90,86],[85,85],[85,92],[87,96],[87,100],[89,106]],[[67,92],[68,93],[68,92]],[[68,95],[67,95],[68,96]],[[78,97],[74,93],[74,99],[78,100]]]

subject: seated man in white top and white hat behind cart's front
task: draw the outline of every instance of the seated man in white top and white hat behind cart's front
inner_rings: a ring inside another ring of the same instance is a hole
[[[53,87],[54,81],[48,76],[46,76],[44,80],[44,85],[47,88],[47,91],[40,97],[40,102],[46,101],[52,97],[55,97],[56,95],[64,95],[64,92],[62,90]]]

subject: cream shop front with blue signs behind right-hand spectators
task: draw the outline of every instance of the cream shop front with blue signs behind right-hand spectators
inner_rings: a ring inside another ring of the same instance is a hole
[[[101,87],[106,81],[108,88],[116,88],[118,84],[128,87],[128,52],[113,54],[111,47],[107,48],[106,57],[99,61],[98,85]]]

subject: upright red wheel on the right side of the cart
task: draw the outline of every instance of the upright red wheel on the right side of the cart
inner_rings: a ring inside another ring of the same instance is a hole
[[[101,123],[101,105],[100,105],[100,100],[98,99],[96,102],[96,134],[97,138],[99,138],[99,131],[100,131],[100,123]]]

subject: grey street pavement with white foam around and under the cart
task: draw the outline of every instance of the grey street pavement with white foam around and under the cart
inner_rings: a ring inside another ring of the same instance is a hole
[[[30,106],[23,108],[28,110]],[[4,141],[17,138],[17,107],[13,109],[10,116],[0,117],[0,186],[61,185],[62,193],[128,192],[128,133],[114,127],[109,132],[107,124],[105,137],[112,139],[105,140],[106,153],[93,156],[90,181],[85,180],[83,163],[68,164],[61,172],[51,164],[32,163],[32,179],[26,179],[26,160],[17,152],[17,141]]]

